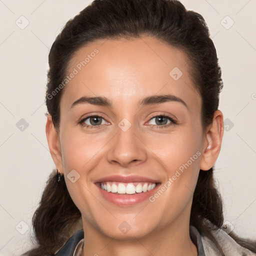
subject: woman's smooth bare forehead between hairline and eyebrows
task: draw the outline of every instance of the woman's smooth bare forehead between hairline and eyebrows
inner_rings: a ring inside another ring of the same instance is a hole
[[[113,107],[136,104],[142,97],[173,94],[190,109],[200,109],[200,96],[188,71],[185,53],[155,38],[98,40],[75,52],[66,75],[61,105],[81,96],[104,96]],[[73,73],[73,75],[70,75]]]

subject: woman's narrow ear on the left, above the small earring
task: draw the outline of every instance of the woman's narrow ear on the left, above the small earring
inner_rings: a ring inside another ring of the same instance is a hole
[[[59,173],[63,173],[62,157],[60,150],[60,142],[58,132],[55,130],[51,115],[47,115],[47,121],[45,126],[48,146],[50,150],[51,157],[55,163],[56,168]]]

